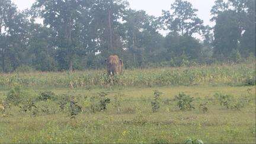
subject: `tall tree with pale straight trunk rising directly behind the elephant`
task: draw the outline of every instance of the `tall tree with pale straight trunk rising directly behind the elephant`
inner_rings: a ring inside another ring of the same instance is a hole
[[[95,0],[90,15],[92,30],[95,31],[95,43],[101,55],[105,57],[123,50],[124,33],[121,31],[124,11],[127,3],[121,0]]]

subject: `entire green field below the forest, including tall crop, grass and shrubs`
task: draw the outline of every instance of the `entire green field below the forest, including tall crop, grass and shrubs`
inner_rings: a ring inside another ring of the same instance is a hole
[[[254,65],[102,73],[2,74],[0,143],[255,143]]]

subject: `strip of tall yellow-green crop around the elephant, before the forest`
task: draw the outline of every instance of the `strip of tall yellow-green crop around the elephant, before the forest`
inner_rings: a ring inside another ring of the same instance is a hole
[[[242,85],[255,82],[255,62],[238,65],[212,65],[181,68],[155,68],[126,70],[114,78],[114,85]],[[104,86],[110,83],[105,71],[30,72],[0,74],[0,86],[19,84],[27,87]]]

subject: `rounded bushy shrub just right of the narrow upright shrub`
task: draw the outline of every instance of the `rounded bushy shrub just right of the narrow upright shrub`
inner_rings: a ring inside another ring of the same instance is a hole
[[[190,95],[184,94],[184,92],[175,95],[175,100],[178,100],[177,105],[180,108],[180,110],[191,110],[192,108],[194,108],[194,105],[192,104],[194,98],[190,97]]]

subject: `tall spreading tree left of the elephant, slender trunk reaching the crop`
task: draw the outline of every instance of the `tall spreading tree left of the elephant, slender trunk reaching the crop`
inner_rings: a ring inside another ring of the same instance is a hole
[[[82,49],[77,33],[81,31],[82,24],[79,23],[82,12],[87,5],[82,0],[37,0],[33,8],[38,9],[40,16],[44,18],[45,27],[53,30],[53,39],[60,57],[65,57],[68,62],[69,71],[73,71],[73,60],[75,55]],[[87,22],[89,23],[89,22]],[[63,62],[63,61],[62,61]]]

